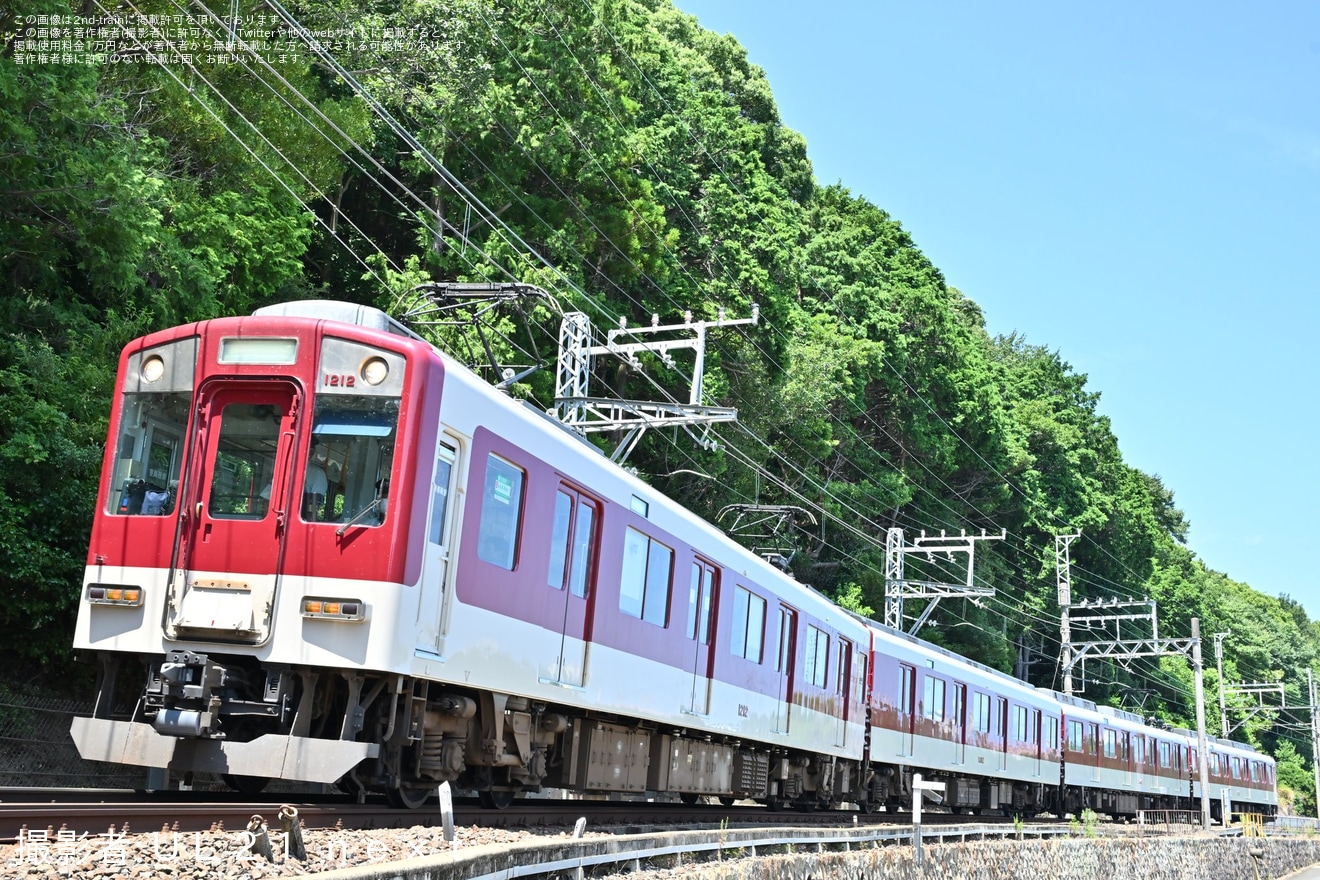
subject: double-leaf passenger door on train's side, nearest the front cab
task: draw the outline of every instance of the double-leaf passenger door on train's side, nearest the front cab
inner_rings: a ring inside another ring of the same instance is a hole
[[[587,620],[591,583],[595,581],[599,504],[561,483],[554,496],[554,525],[546,583],[560,592],[562,617],[558,652],[546,679],[570,687],[586,682]]]

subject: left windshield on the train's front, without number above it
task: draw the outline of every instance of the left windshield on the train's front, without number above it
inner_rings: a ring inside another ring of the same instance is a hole
[[[174,509],[193,396],[127,392],[107,513],[164,516]]]

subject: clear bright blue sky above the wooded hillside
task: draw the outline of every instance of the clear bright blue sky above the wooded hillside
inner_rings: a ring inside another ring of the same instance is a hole
[[[1320,617],[1320,4],[676,3],[821,183],[1089,377],[1209,567]]]

